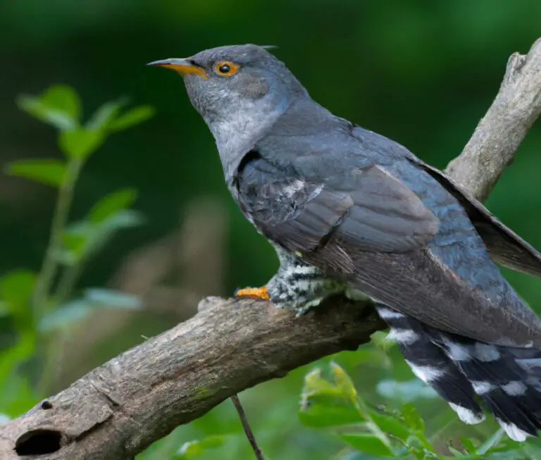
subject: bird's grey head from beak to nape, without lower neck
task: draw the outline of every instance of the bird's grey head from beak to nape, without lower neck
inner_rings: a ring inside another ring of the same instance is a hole
[[[220,46],[189,58],[154,61],[184,77],[190,101],[216,136],[216,125],[235,126],[284,111],[306,91],[265,47]],[[249,123],[250,124],[250,123]]]

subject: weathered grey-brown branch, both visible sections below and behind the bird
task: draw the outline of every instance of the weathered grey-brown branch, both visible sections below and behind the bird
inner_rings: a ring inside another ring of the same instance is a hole
[[[447,173],[485,199],[541,111],[541,40],[509,59],[499,93]],[[5,460],[128,459],[246,388],[385,328],[369,303],[327,299],[302,318],[208,298],[189,321],[111,359],[0,428]]]

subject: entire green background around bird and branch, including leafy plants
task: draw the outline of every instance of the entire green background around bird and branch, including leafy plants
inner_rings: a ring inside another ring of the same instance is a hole
[[[187,318],[200,297],[261,285],[275,271],[273,249],[228,196],[182,81],[144,63],[278,45],[314,99],[443,168],[490,105],[506,59],[540,35],[540,17],[534,0],[4,0],[0,423]],[[150,101],[156,116],[119,94]],[[540,144],[537,124],[487,202],[537,248]],[[197,206],[210,215],[194,217]],[[539,312],[541,282],[504,273]],[[242,402],[269,460],[541,458],[535,440],[518,446],[492,420],[460,423],[396,347],[322,359]],[[140,457],[253,453],[227,401]]]

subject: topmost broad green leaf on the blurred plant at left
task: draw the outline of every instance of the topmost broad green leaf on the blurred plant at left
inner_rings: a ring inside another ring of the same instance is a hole
[[[79,125],[79,95],[67,85],[54,85],[39,96],[23,94],[17,98],[19,108],[58,130],[73,130]]]

